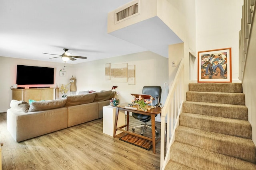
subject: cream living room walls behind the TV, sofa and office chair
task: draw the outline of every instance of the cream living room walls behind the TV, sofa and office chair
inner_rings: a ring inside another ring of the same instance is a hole
[[[0,63],[2,65],[0,67],[0,79],[2,82],[0,88],[0,112],[4,112],[10,108],[10,101],[12,100],[12,91],[10,90],[10,86],[16,82],[17,64],[54,67],[56,75],[54,84],[49,85],[50,87],[56,87],[56,83],[58,83],[59,87],[61,84],[67,84],[69,83],[71,76],[74,76],[77,83],[77,94],[79,91],[84,90],[111,90],[112,86],[118,86],[116,91],[120,92],[118,95],[120,102],[130,102],[132,99],[130,94],[141,93],[143,86],[161,86],[163,103],[166,100],[168,92],[168,89],[165,89],[164,86],[164,83],[168,82],[168,59],[150,51],[80,64],[67,64],[67,67],[65,68],[67,75],[64,77],[59,76],[59,71],[64,67],[64,63],[14,59],[9,57],[0,57]],[[111,80],[105,80],[106,63],[128,63],[128,65],[135,64],[135,85],[128,85],[128,82],[111,82]],[[26,88],[31,87],[30,85],[20,86]],[[69,92],[68,95],[70,95]]]

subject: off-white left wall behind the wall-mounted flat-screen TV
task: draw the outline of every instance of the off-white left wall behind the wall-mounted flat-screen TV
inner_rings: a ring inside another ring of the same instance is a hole
[[[59,71],[64,68],[64,63],[54,63],[54,62],[45,62],[45,61],[35,61],[35,60],[27,60],[27,59],[16,59],[10,57],[0,57],[0,80],[1,80],[1,88],[0,88],[0,113],[5,112],[8,108],[10,108],[10,101],[12,100],[12,90],[10,90],[10,86],[16,84],[16,69],[17,64],[20,65],[30,65],[30,66],[45,66],[45,67],[53,67],[54,68],[54,84],[44,84],[44,85],[18,85],[20,87],[29,88],[32,86],[50,86],[56,87],[56,83],[60,87],[61,84],[69,83],[69,78],[73,74],[75,74],[74,64],[66,64],[65,68],[66,76],[59,76]],[[39,75],[40,76],[40,75]],[[32,77],[31,77],[32,78]]]

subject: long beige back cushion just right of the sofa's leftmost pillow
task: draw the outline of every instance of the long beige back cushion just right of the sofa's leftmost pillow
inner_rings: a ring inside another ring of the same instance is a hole
[[[30,104],[28,112],[64,107],[66,102],[67,102],[66,98],[57,99],[57,100],[46,100],[46,101],[32,102]]]

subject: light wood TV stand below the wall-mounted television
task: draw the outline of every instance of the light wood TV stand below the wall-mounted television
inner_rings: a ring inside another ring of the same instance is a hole
[[[13,100],[53,100],[59,98],[59,88],[24,88],[12,89]]]

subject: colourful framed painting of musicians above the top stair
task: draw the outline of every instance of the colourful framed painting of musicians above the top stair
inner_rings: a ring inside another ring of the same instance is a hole
[[[198,51],[198,82],[232,82],[231,48]]]

